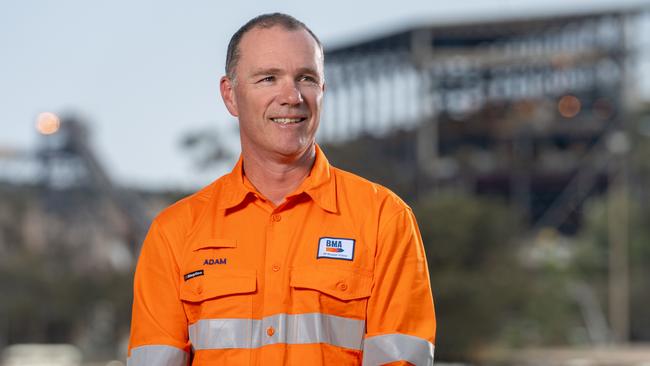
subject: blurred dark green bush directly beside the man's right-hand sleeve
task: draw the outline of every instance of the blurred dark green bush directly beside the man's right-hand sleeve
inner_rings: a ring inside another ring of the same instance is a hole
[[[521,310],[513,239],[517,221],[499,202],[440,194],[414,207],[426,246],[439,359],[475,358]]]

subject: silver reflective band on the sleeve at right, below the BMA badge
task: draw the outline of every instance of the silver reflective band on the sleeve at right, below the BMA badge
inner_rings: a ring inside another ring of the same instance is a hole
[[[431,366],[433,351],[431,342],[406,334],[368,337],[363,345],[363,366],[383,365],[395,361]]]

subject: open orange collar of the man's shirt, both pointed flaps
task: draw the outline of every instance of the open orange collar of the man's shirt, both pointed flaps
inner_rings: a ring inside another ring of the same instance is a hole
[[[259,195],[257,190],[244,180],[243,158],[240,155],[237,164],[226,178],[226,192],[221,202],[217,202],[219,208],[232,208],[242,203],[248,195]],[[316,158],[309,175],[298,186],[293,193],[287,197],[295,197],[305,193],[311,197],[322,209],[328,212],[337,212],[336,202],[336,179],[332,174],[332,169],[321,150],[316,145]]]

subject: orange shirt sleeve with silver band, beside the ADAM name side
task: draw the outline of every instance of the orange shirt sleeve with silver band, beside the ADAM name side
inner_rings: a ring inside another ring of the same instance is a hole
[[[134,276],[128,366],[188,365],[188,324],[179,278],[171,245],[154,220]]]

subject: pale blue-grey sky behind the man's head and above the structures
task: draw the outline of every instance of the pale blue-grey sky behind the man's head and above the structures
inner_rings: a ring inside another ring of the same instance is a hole
[[[638,4],[650,8],[650,0],[4,0],[0,150],[34,150],[38,113],[74,112],[89,122],[95,152],[119,184],[195,189],[227,169],[198,171],[181,137],[201,129],[232,134],[236,121],[218,81],[230,36],[256,15],[289,13],[327,48],[425,22]],[[650,99],[644,52],[640,88]],[[238,146],[235,137],[231,143]]]

